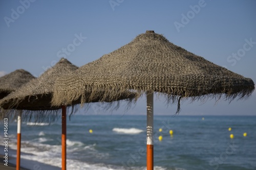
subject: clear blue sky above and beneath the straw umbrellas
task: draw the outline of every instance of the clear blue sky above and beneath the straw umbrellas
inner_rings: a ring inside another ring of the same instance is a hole
[[[256,82],[255,9],[253,0],[0,1],[0,75],[23,68],[38,77],[61,56],[82,66],[154,30]],[[255,104],[256,92],[230,104],[185,101],[180,115],[256,115]],[[141,98],[126,114],[145,114],[145,106]],[[176,108],[155,100],[155,114]]]

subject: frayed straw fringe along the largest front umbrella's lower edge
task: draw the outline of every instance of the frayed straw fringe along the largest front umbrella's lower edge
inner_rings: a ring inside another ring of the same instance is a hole
[[[67,86],[66,88],[68,89],[69,87]],[[131,89],[130,91],[134,93],[134,99],[129,98],[129,95],[127,95],[127,89],[129,88]],[[233,89],[231,87],[225,88],[225,86],[219,88],[216,87],[214,91],[210,88],[207,90],[198,88],[190,91],[184,91],[183,89],[176,90],[175,88],[172,88],[172,90],[169,90],[168,88],[136,88],[135,86],[125,86],[122,84],[115,85],[114,87],[106,84],[100,84],[97,86],[93,84],[87,86],[77,86],[75,89],[60,90],[65,89],[65,84],[62,84],[61,88],[56,86],[54,89],[55,93],[52,99],[53,106],[60,106],[63,104],[63,102],[66,105],[71,105],[73,101],[79,101],[79,99],[81,104],[97,101],[111,102],[120,100],[120,98],[127,98],[130,100],[130,102],[136,102],[144,91],[156,91],[159,92],[159,94],[164,94],[164,96],[166,96],[167,103],[178,104],[177,113],[180,111],[181,99],[190,98],[191,101],[198,100],[201,102],[204,102],[208,99],[215,99],[216,101],[219,101],[223,96],[225,100],[231,102],[237,97],[238,100],[247,99],[253,91],[251,88],[236,87]],[[123,94],[126,95],[124,96]],[[63,101],[63,99],[65,99],[65,101]]]

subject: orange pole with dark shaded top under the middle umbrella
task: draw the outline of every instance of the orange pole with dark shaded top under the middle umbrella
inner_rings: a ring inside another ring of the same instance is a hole
[[[66,106],[61,106],[61,109],[62,109],[62,116],[61,116],[61,119],[62,119],[62,135],[61,135],[61,151],[62,151],[62,154],[61,154],[61,159],[62,159],[62,162],[61,162],[61,169],[62,170],[66,170],[66,135],[67,135],[67,120],[66,120],[66,112],[67,112],[67,107]]]

